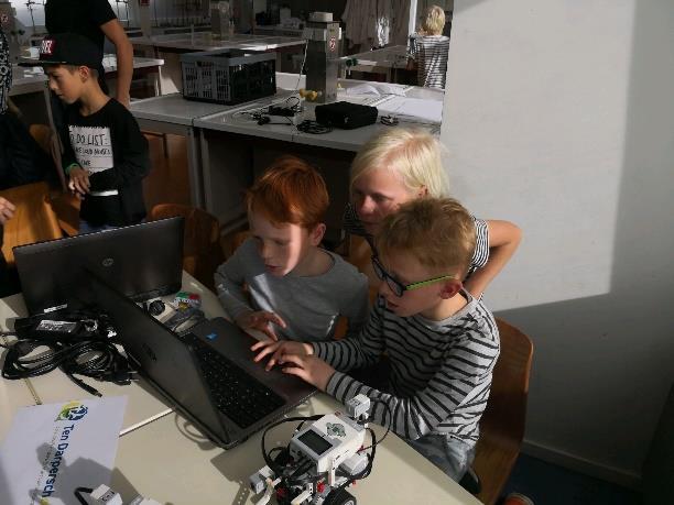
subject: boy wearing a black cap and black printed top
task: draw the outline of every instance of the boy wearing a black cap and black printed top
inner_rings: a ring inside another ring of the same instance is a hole
[[[50,89],[67,106],[61,132],[63,166],[68,187],[83,199],[80,233],[134,224],[145,217],[148,141],[131,112],[100,89],[99,56],[88,39],[62,33],[42,41],[39,62],[23,63],[42,65]]]

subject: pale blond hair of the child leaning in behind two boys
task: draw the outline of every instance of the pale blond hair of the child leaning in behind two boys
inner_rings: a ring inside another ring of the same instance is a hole
[[[351,186],[362,174],[378,168],[396,173],[410,193],[425,187],[432,197],[448,194],[441,144],[424,130],[391,128],[368,140],[351,164]]]

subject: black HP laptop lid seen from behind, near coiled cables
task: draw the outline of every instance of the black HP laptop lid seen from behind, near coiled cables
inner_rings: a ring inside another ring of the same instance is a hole
[[[14,248],[30,314],[88,299],[85,270],[135,300],[180,290],[184,218],[37,242]]]

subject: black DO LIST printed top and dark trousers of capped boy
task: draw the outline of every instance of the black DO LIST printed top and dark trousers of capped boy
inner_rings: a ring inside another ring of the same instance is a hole
[[[90,190],[79,217],[91,226],[126,226],[145,217],[142,179],[150,171],[148,141],[131,112],[115,99],[90,116],[77,105],[65,114],[64,168],[77,163],[89,172]],[[101,191],[118,195],[96,196]]]

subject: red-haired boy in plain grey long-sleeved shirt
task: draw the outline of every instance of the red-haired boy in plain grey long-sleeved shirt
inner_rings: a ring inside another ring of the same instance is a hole
[[[274,340],[323,341],[344,316],[347,337],[358,334],[368,282],[319,246],[328,202],[323,177],[293,156],[274,162],[248,191],[252,237],[215,274],[220,301],[239,327]]]

